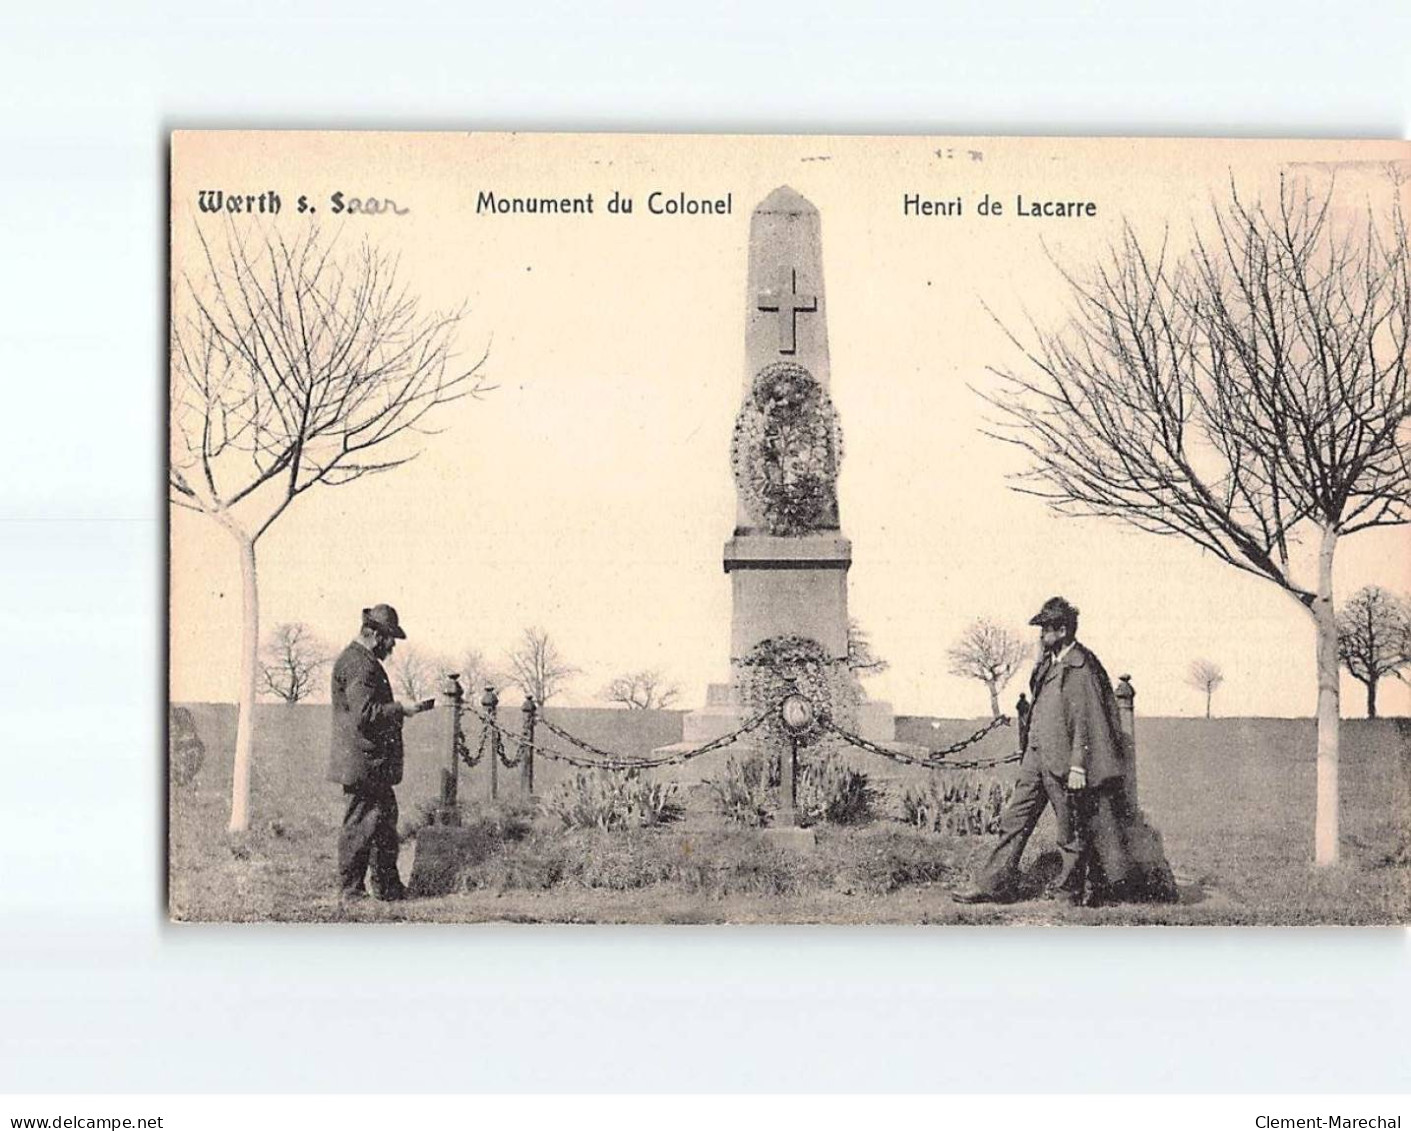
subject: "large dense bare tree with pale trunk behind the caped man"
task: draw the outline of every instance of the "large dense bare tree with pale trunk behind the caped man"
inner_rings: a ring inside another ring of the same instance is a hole
[[[1017,489],[1188,539],[1311,618],[1319,864],[1338,859],[1333,554],[1411,519],[1407,228],[1400,200],[1349,224],[1332,202],[1281,182],[1249,203],[1232,186],[1184,255],[1127,227],[1089,278],[1065,272],[1064,329],[1012,336],[1026,364],[992,369],[986,395],[995,434],[1030,457]],[[1290,558],[1304,530],[1311,580]]]

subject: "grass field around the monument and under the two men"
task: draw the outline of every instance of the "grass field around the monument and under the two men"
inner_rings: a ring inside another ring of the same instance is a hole
[[[790,853],[748,829],[722,828],[700,788],[687,790],[677,825],[632,833],[550,831],[487,863],[463,894],[343,910],[333,898],[333,848],[341,794],[323,781],[327,707],[261,707],[257,712],[251,831],[226,832],[234,708],[192,705],[206,743],[196,780],[172,785],[169,904],[182,921],[432,921],[432,922],[847,922],[847,924],[1397,924],[1411,921],[1411,723],[1345,721],[1342,728],[1342,855],[1312,867],[1314,723],[1308,719],[1140,719],[1140,800],[1161,831],[1181,884],[1164,907],[1067,908],[1024,901],[965,907],[962,883],[989,838],[917,832],[879,818],[862,828],[823,828],[818,846]],[[504,712],[502,712],[504,714]],[[679,739],[677,712],[564,712],[559,721],[598,745],[632,753]],[[507,718],[511,726],[516,718]],[[910,721],[920,728],[920,721]],[[976,721],[928,722],[940,746]],[[436,793],[444,764],[444,721],[408,723],[404,817]],[[1002,754],[998,732],[979,749]],[[474,747],[474,740],[471,743]],[[866,756],[864,756],[866,757]],[[861,764],[895,798],[903,771]],[[481,766],[461,795],[483,795]],[[536,769],[536,791],[563,770]],[[501,771],[505,793],[516,776]],[[1053,845],[1046,818],[1026,867]],[[411,870],[413,845],[402,849]],[[538,853],[538,856],[535,856]],[[533,873],[553,856],[546,881]],[[533,857],[533,859],[531,859]],[[690,862],[690,866],[683,866]],[[564,866],[567,864],[567,866]],[[655,880],[655,876],[667,879]],[[543,886],[549,883],[549,886]]]

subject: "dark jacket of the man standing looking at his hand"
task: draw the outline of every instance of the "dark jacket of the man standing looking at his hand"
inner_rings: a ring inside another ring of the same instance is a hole
[[[402,708],[387,671],[353,642],[333,664],[329,781],[396,785],[402,780]]]

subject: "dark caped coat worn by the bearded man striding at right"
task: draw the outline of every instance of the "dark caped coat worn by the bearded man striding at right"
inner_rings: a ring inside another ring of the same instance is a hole
[[[1098,657],[1075,642],[1060,663],[1038,668],[1036,677],[1024,766],[1064,778],[1078,766],[1091,787],[1125,777],[1118,698]]]

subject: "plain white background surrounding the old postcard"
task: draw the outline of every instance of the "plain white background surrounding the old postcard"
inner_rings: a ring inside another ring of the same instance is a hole
[[[1397,3],[586,7],[0,16],[0,1090],[1407,1090],[1403,931],[164,922],[168,130],[1407,128]]]

